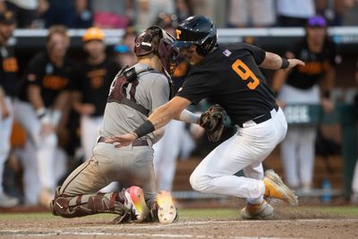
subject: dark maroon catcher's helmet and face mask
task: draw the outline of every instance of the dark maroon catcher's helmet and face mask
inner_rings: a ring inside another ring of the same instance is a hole
[[[158,36],[158,44],[153,38]],[[151,53],[158,55],[166,73],[175,72],[177,65],[177,56],[179,51],[173,47],[175,38],[166,30],[158,26],[151,26],[144,30],[137,38],[135,38],[134,53],[137,56],[149,55]]]

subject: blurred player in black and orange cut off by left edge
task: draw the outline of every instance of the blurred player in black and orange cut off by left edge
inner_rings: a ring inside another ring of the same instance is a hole
[[[10,152],[10,137],[13,127],[12,98],[18,88],[18,64],[13,54],[13,47],[8,46],[8,39],[13,36],[16,20],[13,12],[0,14],[0,207],[13,207],[19,203],[16,198],[4,192],[4,164]]]

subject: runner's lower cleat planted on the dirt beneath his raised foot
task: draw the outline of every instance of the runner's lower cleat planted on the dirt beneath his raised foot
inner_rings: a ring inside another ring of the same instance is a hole
[[[241,210],[241,216],[244,219],[268,219],[274,215],[274,209],[267,201],[260,204],[247,204]]]

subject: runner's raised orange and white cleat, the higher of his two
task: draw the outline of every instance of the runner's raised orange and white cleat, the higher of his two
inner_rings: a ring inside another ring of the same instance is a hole
[[[294,194],[294,191],[289,189],[282,179],[272,169],[265,172],[263,178],[265,184],[265,197],[276,198],[282,201],[286,201],[292,206],[298,205],[298,198]]]

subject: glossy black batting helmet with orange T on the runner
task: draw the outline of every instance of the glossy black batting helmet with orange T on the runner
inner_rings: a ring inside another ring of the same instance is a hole
[[[217,44],[217,29],[208,17],[195,15],[185,19],[176,29],[175,47],[198,45],[200,55],[207,55]]]

